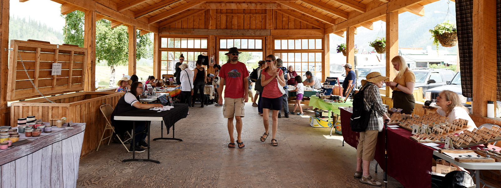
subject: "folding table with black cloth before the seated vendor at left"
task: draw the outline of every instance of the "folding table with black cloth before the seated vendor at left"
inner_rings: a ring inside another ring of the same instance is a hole
[[[151,121],[160,121],[161,122],[161,136],[160,138],[154,138],[153,140],[158,140],[158,139],[164,139],[164,140],[179,140],[183,141],[179,138],[175,138],[174,135],[174,124],[179,121],[180,119],[183,119],[187,116],[188,114],[188,104],[174,104],[174,108],[166,111],[154,111],[154,110],[149,110],[149,109],[135,109],[135,110],[130,110],[121,114],[117,114],[114,116],[115,120],[126,120],[126,121],[134,121],[133,123],[133,128],[132,128],[132,142],[135,142],[135,129],[136,129],[136,124],[135,121],[147,121],[146,124],[146,135],[148,137],[148,158],[147,159],[139,159],[136,158],[135,155],[135,148],[132,150],[132,158],[131,159],[124,159],[122,162],[127,162],[127,161],[149,161],[149,162],[156,162],[160,163],[158,160],[152,160],[150,159],[150,123]],[[172,127],[172,138],[164,138],[163,137],[163,123],[165,123],[165,127],[167,128],[167,134],[169,134],[170,127]]]

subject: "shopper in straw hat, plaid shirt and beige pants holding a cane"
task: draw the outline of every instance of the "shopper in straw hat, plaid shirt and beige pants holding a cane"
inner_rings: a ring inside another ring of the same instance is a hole
[[[381,76],[381,73],[371,72],[362,80],[362,89],[364,91],[364,103],[366,103],[365,110],[369,111],[372,106],[372,113],[370,116],[369,124],[364,132],[360,132],[357,146],[357,170],[355,177],[360,178],[361,183],[381,186],[381,182],[372,178],[369,174],[370,161],[374,159],[376,152],[377,134],[378,134],[378,117],[383,119],[390,119],[386,115],[386,107],[379,95],[379,88],[383,86],[384,81],[388,77]]]

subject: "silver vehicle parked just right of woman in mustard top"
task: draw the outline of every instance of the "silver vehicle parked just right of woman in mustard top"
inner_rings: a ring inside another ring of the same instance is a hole
[[[430,88],[446,85],[454,77],[454,71],[450,69],[418,68],[412,71],[416,76],[414,87],[422,87],[423,95]]]

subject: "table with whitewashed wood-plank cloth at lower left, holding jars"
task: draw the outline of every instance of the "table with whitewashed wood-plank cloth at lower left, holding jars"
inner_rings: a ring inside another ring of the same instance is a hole
[[[74,124],[0,151],[2,187],[76,187],[86,124]]]

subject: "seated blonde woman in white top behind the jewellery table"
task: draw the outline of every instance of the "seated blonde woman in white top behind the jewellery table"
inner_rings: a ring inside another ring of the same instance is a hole
[[[447,122],[452,123],[452,121],[459,118],[468,120],[468,130],[472,131],[476,128],[475,123],[468,115],[468,110],[461,105],[459,96],[457,93],[449,90],[441,91],[437,96],[437,106],[438,109],[435,114],[448,117]]]

